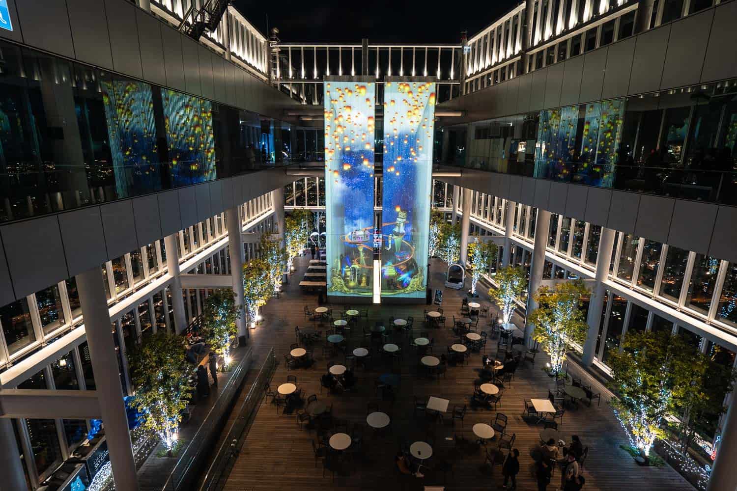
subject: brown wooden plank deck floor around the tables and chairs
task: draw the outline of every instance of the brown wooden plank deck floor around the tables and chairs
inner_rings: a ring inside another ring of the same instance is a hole
[[[251,344],[259,353],[266,353],[270,347],[276,350],[276,356],[283,361],[288,353],[289,346],[296,342],[294,336],[295,325],[309,325],[303,313],[303,306],[310,308],[317,306],[317,298],[299,292],[298,280],[304,271],[309,258],[297,261],[298,271],[285,286],[284,295],[279,300],[272,300],[263,309],[265,325],[252,331]],[[432,266],[432,284],[440,287],[443,281],[442,265],[434,262]],[[458,313],[464,291],[451,289],[444,290],[443,308],[449,319],[453,313]],[[489,303],[485,294],[482,294],[482,303]],[[340,308],[339,305],[336,305]],[[428,331],[422,325],[422,311],[426,305],[382,305],[370,306],[368,322],[373,325],[374,320],[412,315],[415,318],[413,337],[419,336],[419,331]],[[493,307],[492,307],[493,309]],[[488,320],[481,318],[479,327],[489,329]],[[517,319],[517,325],[520,325]],[[356,332],[357,331],[357,332]],[[450,321],[447,328],[429,330],[430,336],[435,338],[434,350],[436,354],[444,353],[446,346],[455,339],[450,330]],[[354,330],[349,336],[351,350],[362,341],[360,329]],[[496,351],[496,342],[489,341],[487,353],[493,355]],[[377,401],[374,381],[377,377],[389,372],[388,365],[375,363],[372,370],[357,368],[359,379],[357,392],[343,395],[328,395],[326,391],[320,393],[320,376],[326,372],[326,363],[334,361],[342,363],[342,355],[333,358],[324,358],[321,348],[315,347],[316,363],[308,369],[296,369],[287,372],[283,363],[279,365],[272,381],[272,387],[286,381],[287,375],[296,375],[298,387],[303,390],[305,397],[317,394],[318,400],[328,400],[333,404],[335,418],[348,420],[349,423],[366,423],[366,404]],[[508,432],[517,435],[515,447],[520,450],[520,474],[517,489],[537,489],[532,472],[533,461],[530,450],[538,444],[539,431],[542,425],[534,425],[523,420],[523,400],[529,398],[545,398],[548,387],[553,386],[551,378],[541,370],[545,364],[544,353],[537,356],[537,364],[530,367],[523,365],[517,370],[511,387],[503,396],[499,412],[509,417]],[[472,441],[472,426],[475,423],[489,423],[495,417],[495,411],[488,409],[472,409],[469,405],[464,424],[455,423],[455,427],[447,424],[433,423],[420,425],[413,419],[413,397],[427,400],[430,395],[436,395],[450,400],[450,407],[455,404],[469,403],[473,390],[473,382],[478,378],[478,369],[481,366],[481,355],[471,356],[467,366],[448,367],[447,377],[439,380],[428,380],[416,376],[416,356],[405,349],[405,355],[400,370],[401,384],[397,389],[397,400],[393,404],[380,401],[382,411],[392,415],[392,431],[385,436],[374,437],[370,431],[366,432],[364,444],[365,457],[356,459],[349,465],[349,473],[337,475],[333,480],[330,473],[323,477],[323,469],[318,462],[315,467],[315,458],[312,453],[310,440],[315,439],[315,431],[298,428],[294,414],[279,414],[271,403],[262,403],[254,420],[245,445],[228,479],[226,490],[395,490],[395,489],[422,489],[422,486],[445,486],[447,490],[482,490],[501,487],[503,478],[500,466],[489,471],[484,465],[484,453],[481,448],[470,448],[467,451],[458,451],[453,442],[454,434],[462,434]],[[570,365],[569,372],[580,376],[581,372]],[[584,374],[584,377],[587,376]],[[598,384],[593,381],[594,386]],[[371,428],[367,428],[370,430]],[[619,423],[609,409],[606,398],[602,397],[601,406],[581,406],[579,409],[567,411],[561,427],[562,434],[570,441],[571,434],[578,434],[584,446],[590,448],[589,457],[585,464],[584,476],[586,484],[584,490],[692,490],[690,484],[671,467],[638,467],[619,445],[626,443],[626,436]],[[427,472],[425,478],[400,479],[394,468],[394,455],[398,449],[398,439],[407,442],[425,439],[427,432],[434,434],[436,445],[433,456],[427,460],[432,466],[440,459],[447,459],[453,464],[453,472]],[[495,448],[495,442],[489,443],[489,448]],[[558,484],[559,471],[556,470],[553,482],[548,487],[555,490]]]

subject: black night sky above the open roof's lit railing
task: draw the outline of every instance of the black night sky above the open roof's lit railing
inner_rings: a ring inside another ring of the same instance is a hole
[[[469,37],[520,3],[514,0],[453,2],[321,2],[245,1],[233,4],[268,37],[279,28],[287,43],[457,43],[461,31]]]

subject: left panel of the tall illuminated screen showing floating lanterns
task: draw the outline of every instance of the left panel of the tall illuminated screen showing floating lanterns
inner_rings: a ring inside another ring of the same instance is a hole
[[[326,77],[323,86],[328,292],[371,296],[374,82],[372,77]]]

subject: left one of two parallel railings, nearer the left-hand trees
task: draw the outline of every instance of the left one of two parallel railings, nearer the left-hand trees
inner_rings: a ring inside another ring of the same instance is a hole
[[[248,351],[245,352],[243,358],[241,358],[240,362],[233,369],[231,378],[223,386],[220,397],[217,398],[217,403],[212,406],[197,433],[195,433],[195,436],[192,437],[181,453],[177,464],[164,483],[164,486],[161,487],[162,491],[192,489],[194,482],[199,476],[200,468],[210,455],[210,449],[220,435],[220,431],[228,418],[228,411],[231,409],[233,399],[238,390],[240,390],[245,376],[251,368],[253,359],[253,349],[248,348]]]

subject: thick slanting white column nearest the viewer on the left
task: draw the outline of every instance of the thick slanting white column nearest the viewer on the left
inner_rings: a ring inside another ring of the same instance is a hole
[[[108,302],[105,299],[105,288],[102,286],[102,271],[99,267],[94,267],[77,275],[76,279],[92,370],[97,385],[99,409],[102,423],[105,423],[105,439],[108,442],[115,489],[136,491],[138,490],[136,461],[133,459],[133,447],[130,445],[128,416],[123,403],[123,388],[120,384],[118,360],[111,334]]]

